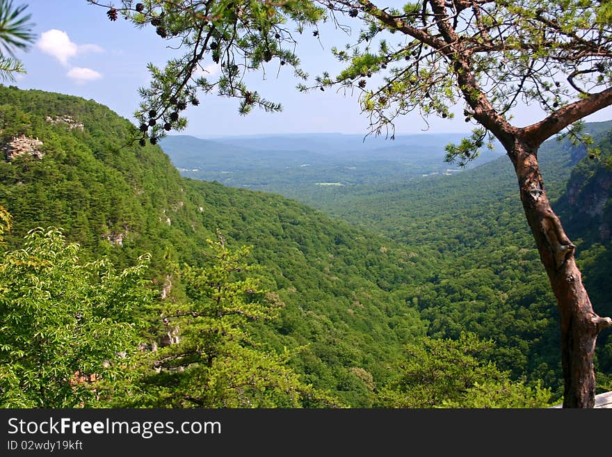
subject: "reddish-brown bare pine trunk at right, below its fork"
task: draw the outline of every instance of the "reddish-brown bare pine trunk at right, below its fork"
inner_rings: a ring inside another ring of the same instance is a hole
[[[538,148],[517,137],[506,149],[515,166],[523,209],[561,317],[563,408],[593,408],[595,342],[599,331],[611,325],[611,319],[593,312],[574,259],[576,246],[563,231],[547,198],[538,166]]]

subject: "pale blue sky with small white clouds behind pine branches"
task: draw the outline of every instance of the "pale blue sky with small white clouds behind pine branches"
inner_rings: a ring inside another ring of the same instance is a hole
[[[147,63],[163,67],[168,58],[177,56],[168,49],[168,42],[156,35],[150,26],[137,29],[119,17],[111,22],[106,9],[86,0],[14,0],[15,5],[27,4],[31,14],[36,42],[28,51],[17,53],[27,74],[19,75],[15,86],[76,95],[108,106],[124,118],[136,122],[133,113],[138,109],[138,88],[147,86]],[[119,3],[119,1],[117,1]],[[385,1],[398,5],[401,1]],[[358,33],[354,29],[353,34]],[[332,45],[350,41],[330,23],[319,33],[321,40],[305,31],[296,49],[302,68],[312,77],[328,70],[335,75],[341,67],[332,57]],[[274,61],[273,61],[274,62]],[[204,66],[215,72],[212,62]],[[278,73],[278,74],[277,74]],[[254,110],[239,115],[234,99],[207,95],[200,97],[199,106],[190,106],[184,114],[188,127],[179,132],[214,138],[253,134],[342,133],[367,134],[367,116],[360,113],[357,95],[345,95],[327,90],[300,93],[287,65],[270,65],[266,73],[250,75],[250,87],[262,97],[283,106],[281,113]],[[462,106],[454,110],[455,119],[428,118],[426,123],[417,113],[403,116],[396,122],[396,134],[468,132],[474,127],[463,120]],[[533,107],[517,111],[517,125],[529,125],[540,120],[542,113]],[[586,120],[612,119],[608,108]],[[521,121],[521,122],[519,122]],[[177,132],[171,132],[175,134]]]

